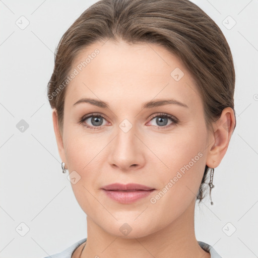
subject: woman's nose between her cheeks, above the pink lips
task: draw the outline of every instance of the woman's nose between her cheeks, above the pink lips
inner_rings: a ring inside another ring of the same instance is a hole
[[[130,171],[145,165],[145,146],[136,134],[134,126],[128,132],[118,128],[108,156],[108,162],[113,168]]]

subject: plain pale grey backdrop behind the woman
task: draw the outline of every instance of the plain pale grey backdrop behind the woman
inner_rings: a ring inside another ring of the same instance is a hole
[[[1,258],[40,258],[87,237],[86,214],[61,172],[46,89],[61,36],[95,2],[0,1]],[[257,257],[258,1],[193,2],[231,47],[237,123],[215,168],[214,205],[208,195],[196,207],[196,236],[222,257]]]

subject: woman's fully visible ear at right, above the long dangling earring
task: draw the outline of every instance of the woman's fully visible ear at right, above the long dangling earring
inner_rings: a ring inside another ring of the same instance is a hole
[[[234,110],[231,107],[223,109],[221,116],[213,124],[214,133],[210,133],[206,165],[217,167],[226,154],[230,138],[235,127]]]

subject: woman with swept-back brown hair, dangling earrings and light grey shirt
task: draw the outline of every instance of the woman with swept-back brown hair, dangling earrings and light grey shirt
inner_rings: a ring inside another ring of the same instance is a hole
[[[236,125],[234,85],[228,43],[195,4],[87,9],[62,36],[48,84],[87,238],[51,257],[221,257],[197,241],[194,215]]]

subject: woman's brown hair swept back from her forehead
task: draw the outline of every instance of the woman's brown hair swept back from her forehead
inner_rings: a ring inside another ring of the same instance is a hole
[[[61,135],[67,88],[63,82],[73,61],[85,47],[108,39],[159,44],[178,56],[196,81],[207,128],[212,128],[212,121],[225,107],[234,110],[235,71],[229,45],[220,28],[197,5],[188,0],[101,0],[81,14],[55,50],[47,90]],[[208,169],[206,165],[199,203],[204,198]]]

